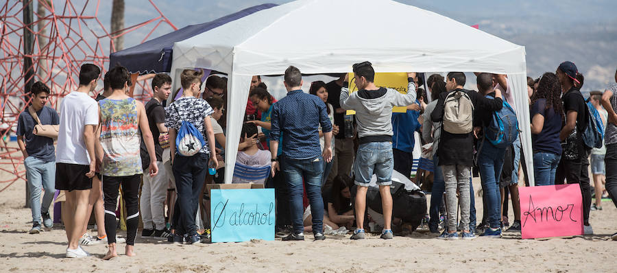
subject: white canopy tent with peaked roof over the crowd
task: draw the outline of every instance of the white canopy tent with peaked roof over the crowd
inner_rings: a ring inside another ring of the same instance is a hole
[[[391,0],[293,1],[175,43],[171,73],[194,67],[228,73],[229,183],[252,75],[282,74],[289,65],[302,73],[351,72],[365,60],[377,72],[507,74],[533,185],[524,47],[434,12]]]

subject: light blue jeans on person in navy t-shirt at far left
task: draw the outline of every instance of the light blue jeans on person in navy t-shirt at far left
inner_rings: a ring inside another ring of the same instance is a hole
[[[56,162],[42,161],[34,156],[24,159],[28,189],[30,191],[30,208],[32,209],[32,222],[40,224],[40,213],[49,212],[49,206],[56,193]],[[45,189],[43,204],[40,202],[40,189]]]

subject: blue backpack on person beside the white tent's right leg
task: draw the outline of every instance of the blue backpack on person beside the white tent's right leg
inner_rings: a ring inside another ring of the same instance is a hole
[[[486,97],[494,99],[494,97],[490,95]],[[512,106],[504,100],[501,110],[493,112],[491,122],[484,128],[484,136],[495,147],[505,148],[516,141],[518,132],[516,112],[514,112]]]

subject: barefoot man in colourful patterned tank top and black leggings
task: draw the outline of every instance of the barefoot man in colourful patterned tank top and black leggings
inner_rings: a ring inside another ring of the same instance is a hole
[[[118,190],[122,185],[122,197],[126,203],[127,239],[126,255],[134,256],[133,246],[138,226],[138,192],[143,173],[139,153],[139,130],[150,157],[149,176],[158,173],[154,139],[150,131],[145,108],[141,102],[126,95],[131,78],[125,67],[114,67],[109,71],[112,95],[99,101],[100,137],[97,156],[102,158],[103,193],[105,202],[105,232],[108,235],[108,252],[103,259],[117,257],[116,213]]]

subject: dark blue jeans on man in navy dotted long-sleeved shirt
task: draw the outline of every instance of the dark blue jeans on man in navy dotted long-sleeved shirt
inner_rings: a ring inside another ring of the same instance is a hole
[[[281,161],[282,172],[289,185],[289,206],[291,208],[291,225],[293,233],[304,231],[302,224],[302,181],[306,195],[311,204],[313,215],[313,233],[322,233],[324,221],[324,201],[322,200],[322,175],[324,174],[322,156],[309,159],[293,159],[285,156]]]

